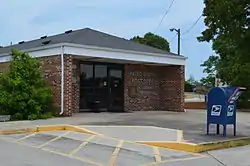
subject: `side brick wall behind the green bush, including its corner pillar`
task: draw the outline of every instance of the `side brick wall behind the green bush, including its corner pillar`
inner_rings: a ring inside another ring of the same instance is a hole
[[[72,101],[73,94],[77,94],[73,88],[73,60],[71,55],[64,55],[64,115],[71,116],[73,111],[77,109],[75,102]],[[61,105],[61,56],[49,56],[40,58],[42,70],[46,84],[52,90],[52,99],[55,106]],[[0,71],[8,68],[8,63],[0,63]],[[75,92],[75,93],[73,93]],[[59,110],[60,111],[60,110]]]

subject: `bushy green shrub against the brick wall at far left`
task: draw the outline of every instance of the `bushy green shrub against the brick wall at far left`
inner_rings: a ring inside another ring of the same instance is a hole
[[[45,85],[40,62],[12,50],[9,70],[0,75],[0,110],[14,120],[51,116],[51,91]]]

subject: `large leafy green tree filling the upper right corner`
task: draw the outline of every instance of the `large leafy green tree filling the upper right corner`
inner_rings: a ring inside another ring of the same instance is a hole
[[[250,98],[250,1],[204,0],[203,16],[207,28],[198,37],[213,42],[219,55],[218,77],[231,86],[244,86],[242,102]],[[249,104],[248,104],[249,105]]]

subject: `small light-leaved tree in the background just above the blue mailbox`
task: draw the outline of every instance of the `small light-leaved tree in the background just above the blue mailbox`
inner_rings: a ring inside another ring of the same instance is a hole
[[[203,67],[203,73],[207,74],[206,77],[203,77],[200,82],[207,88],[212,88],[215,85],[216,78],[216,67],[218,66],[219,57],[218,56],[210,56],[201,67]]]

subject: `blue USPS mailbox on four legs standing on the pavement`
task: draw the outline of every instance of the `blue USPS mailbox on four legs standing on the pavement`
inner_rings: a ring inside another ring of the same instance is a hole
[[[223,125],[223,135],[226,136],[227,125],[234,126],[236,135],[236,101],[245,88],[214,87],[207,95],[207,134],[210,124],[217,125],[217,134],[220,125]]]

